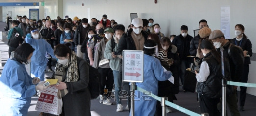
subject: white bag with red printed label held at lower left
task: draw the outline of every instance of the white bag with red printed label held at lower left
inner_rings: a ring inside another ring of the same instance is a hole
[[[36,103],[35,110],[54,115],[61,114],[62,99],[57,97],[58,89],[55,86],[49,86],[42,91]]]

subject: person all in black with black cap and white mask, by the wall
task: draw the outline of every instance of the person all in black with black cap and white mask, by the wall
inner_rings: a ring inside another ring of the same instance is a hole
[[[180,58],[180,80],[182,85],[184,85],[185,70],[190,67],[190,64],[193,61],[193,59],[188,57],[190,56],[190,41],[193,37],[188,35],[188,27],[186,25],[182,25],[180,30],[181,34],[173,39],[172,44],[177,47],[177,52]]]

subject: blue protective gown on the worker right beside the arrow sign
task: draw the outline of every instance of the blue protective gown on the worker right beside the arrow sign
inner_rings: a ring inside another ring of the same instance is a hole
[[[170,71],[164,72],[160,61],[153,56],[144,54],[143,82],[136,83],[154,95],[158,93],[158,81],[165,81],[172,76]],[[137,100],[137,101],[136,101]],[[150,101],[146,101],[150,100]],[[142,92],[135,91],[135,116],[154,116],[156,100],[152,97],[145,97]],[[130,112],[131,116],[131,112]]]

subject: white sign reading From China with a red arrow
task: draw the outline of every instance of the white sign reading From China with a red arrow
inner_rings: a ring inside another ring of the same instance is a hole
[[[144,52],[123,50],[123,81],[143,82]]]

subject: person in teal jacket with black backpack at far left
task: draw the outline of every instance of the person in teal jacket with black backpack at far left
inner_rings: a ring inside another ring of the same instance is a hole
[[[11,53],[16,50],[16,48],[19,46],[19,44],[23,43],[23,40],[24,40],[23,39],[23,37],[24,37],[23,30],[18,27],[18,21],[13,20],[11,22],[11,26],[12,26],[12,29],[8,32],[8,36],[7,36],[8,46],[9,46],[9,50],[8,50],[9,57],[11,56]],[[16,33],[18,33],[20,35],[18,37],[14,38]],[[10,43],[10,39],[16,39],[16,40],[14,42]],[[10,44],[13,44],[13,45],[10,45]]]

